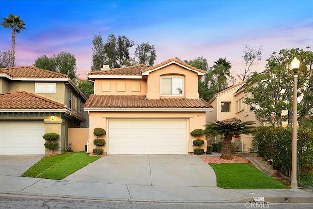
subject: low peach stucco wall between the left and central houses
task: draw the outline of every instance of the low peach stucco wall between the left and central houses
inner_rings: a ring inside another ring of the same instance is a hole
[[[72,151],[79,152],[85,150],[88,140],[88,128],[69,128],[68,142],[72,143]]]

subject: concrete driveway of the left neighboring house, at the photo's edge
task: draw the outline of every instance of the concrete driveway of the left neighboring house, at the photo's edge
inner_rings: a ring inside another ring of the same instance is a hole
[[[21,176],[44,155],[0,155],[0,175]]]

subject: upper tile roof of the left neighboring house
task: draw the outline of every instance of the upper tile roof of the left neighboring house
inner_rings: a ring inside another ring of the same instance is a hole
[[[7,74],[13,78],[68,78],[68,75],[44,70],[32,66],[18,66],[11,68],[0,68],[0,73]]]

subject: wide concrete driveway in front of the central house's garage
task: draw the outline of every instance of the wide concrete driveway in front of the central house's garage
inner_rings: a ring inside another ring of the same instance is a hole
[[[144,186],[216,186],[213,169],[194,155],[109,155],[64,180]]]

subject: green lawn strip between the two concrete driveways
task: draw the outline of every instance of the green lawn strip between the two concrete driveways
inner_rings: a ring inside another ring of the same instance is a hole
[[[99,158],[101,157],[89,156],[85,152],[69,152],[60,155],[45,156],[23,173],[22,176],[63,179]]]

